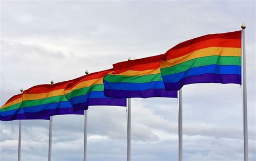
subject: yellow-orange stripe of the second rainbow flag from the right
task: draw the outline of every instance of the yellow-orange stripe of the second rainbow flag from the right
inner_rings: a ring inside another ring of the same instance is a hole
[[[160,73],[160,68],[157,69],[149,69],[145,71],[125,71],[120,74],[114,74],[114,72],[109,73],[110,75],[127,75],[127,76],[142,76],[142,75],[150,75],[150,74],[159,74]]]

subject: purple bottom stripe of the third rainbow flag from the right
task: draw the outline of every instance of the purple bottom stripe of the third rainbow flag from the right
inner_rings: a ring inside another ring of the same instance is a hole
[[[89,99],[89,106],[126,106],[126,99]]]

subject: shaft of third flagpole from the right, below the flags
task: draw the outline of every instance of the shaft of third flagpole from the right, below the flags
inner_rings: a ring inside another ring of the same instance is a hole
[[[127,161],[131,161],[131,99],[127,99]]]

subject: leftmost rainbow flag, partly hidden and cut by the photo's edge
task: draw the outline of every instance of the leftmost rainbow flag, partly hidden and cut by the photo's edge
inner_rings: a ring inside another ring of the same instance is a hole
[[[22,108],[22,94],[12,96],[1,108],[0,108],[0,120],[30,120],[24,115]],[[34,119],[50,120],[50,117],[37,117]]]

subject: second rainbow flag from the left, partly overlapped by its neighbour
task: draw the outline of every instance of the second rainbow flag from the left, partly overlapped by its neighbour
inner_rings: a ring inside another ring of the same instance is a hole
[[[83,110],[75,111],[65,96],[65,89],[72,83],[73,80],[53,85],[37,85],[24,90],[22,94],[24,115],[31,119],[66,114],[83,115]]]

